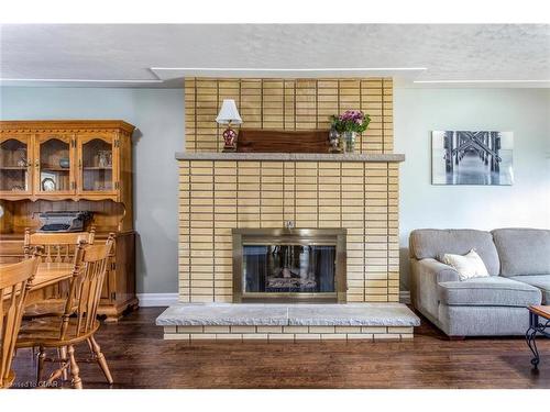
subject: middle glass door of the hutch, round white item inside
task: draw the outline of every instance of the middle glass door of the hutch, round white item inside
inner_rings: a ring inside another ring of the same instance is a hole
[[[75,189],[73,138],[69,135],[40,136],[36,146],[36,188],[42,194],[73,193]]]

